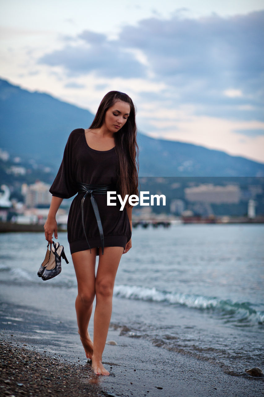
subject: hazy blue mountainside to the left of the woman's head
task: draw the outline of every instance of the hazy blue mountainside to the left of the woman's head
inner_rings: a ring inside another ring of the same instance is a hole
[[[0,79],[0,147],[41,162],[61,162],[69,133],[88,128],[94,115],[35,91],[30,93]]]

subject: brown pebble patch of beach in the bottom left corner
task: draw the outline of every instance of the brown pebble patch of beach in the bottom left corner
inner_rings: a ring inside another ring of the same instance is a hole
[[[32,349],[32,347],[31,347]],[[96,384],[87,382],[88,364],[75,366],[61,357],[30,350],[27,344],[0,341],[0,395],[102,397]],[[92,376],[93,377],[93,376]]]

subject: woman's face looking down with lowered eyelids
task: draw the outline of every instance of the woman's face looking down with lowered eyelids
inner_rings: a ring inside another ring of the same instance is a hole
[[[117,101],[107,109],[105,113],[104,125],[111,132],[119,131],[129,116],[130,105],[126,102]]]

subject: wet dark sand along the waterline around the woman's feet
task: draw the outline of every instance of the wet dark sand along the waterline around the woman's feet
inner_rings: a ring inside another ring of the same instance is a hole
[[[17,357],[17,361],[13,360],[19,362],[16,364],[19,366],[17,371],[15,374],[9,372],[14,382],[26,384],[18,377],[18,369],[21,368],[21,371],[27,374],[32,372],[36,387],[40,387],[38,380],[41,379],[43,388],[36,389],[33,394],[18,394],[14,389],[15,397],[59,395],[56,390],[59,393],[62,387],[63,395],[66,397],[86,396],[88,393],[122,397],[263,395],[264,378],[254,378],[246,373],[243,376],[225,374],[221,368],[207,361],[167,351],[143,338],[128,337],[115,327],[109,329],[107,341],[114,340],[117,345],[107,344],[103,353],[103,363],[110,376],[95,376],[87,364],[78,337],[70,291],[67,300],[65,293],[59,289],[55,291],[54,288],[46,287],[45,295],[43,293],[43,289],[30,288],[29,291],[28,287],[25,289],[16,286],[11,290],[8,285],[1,284],[0,339],[5,343],[11,343],[8,353],[3,357],[4,364],[7,365],[5,368],[15,371],[12,369],[11,359]],[[75,291],[73,293],[75,294]],[[92,327],[90,331],[92,334]],[[22,350],[19,351],[17,348]],[[21,356],[22,352],[24,358]],[[22,358],[24,362],[20,364],[19,360]],[[33,364],[34,362],[38,366]],[[49,363],[48,366],[46,362]],[[45,375],[49,368],[55,368],[54,377]],[[45,385],[44,377],[50,378],[48,387]],[[23,391],[23,386],[16,387]],[[42,394],[44,391],[50,394]],[[65,394],[68,391],[69,394]]]

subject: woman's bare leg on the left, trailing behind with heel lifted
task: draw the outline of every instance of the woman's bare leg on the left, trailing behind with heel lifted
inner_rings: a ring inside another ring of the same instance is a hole
[[[75,301],[78,333],[84,347],[86,357],[92,359],[93,342],[88,332],[88,324],[92,314],[95,297],[95,265],[96,248],[72,254],[73,264],[78,283],[78,295]]]

